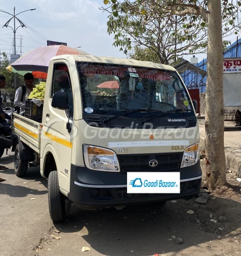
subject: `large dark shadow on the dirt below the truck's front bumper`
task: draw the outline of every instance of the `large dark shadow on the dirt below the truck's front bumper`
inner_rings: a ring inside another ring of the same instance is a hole
[[[194,213],[187,214],[191,209]],[[219,221],[221,216],[226,217],[226,221]],[[220,251],[215,251],[217,245],[211,244],[209,248],[203,243],[217,240],[217,236],[240,235],[240,216],[241,204],[221,197],[209,199],[206,205],[199,205],[194,200],[177,200],[176,203],[168,201],[162,207],[157,204],[136,205],[122,210],[108,208],[95,212],[71,205],[66,216],[68,220],[56,228],[62,233],[79,232],[76,240],[81,235],[92,249],[104,255],[170,252],[177,255],[178,251],[192,246],[195,250],[205,247],[212,255],[221,255]],[[239,231],[235,233],[237,229]],[[175,240],[170,240],[173,235],[181,237],[183,244],[177,245]],[[76,240],[69,241],[69,246],[77,247]],[[193,255],[195,253],[193,251]]]

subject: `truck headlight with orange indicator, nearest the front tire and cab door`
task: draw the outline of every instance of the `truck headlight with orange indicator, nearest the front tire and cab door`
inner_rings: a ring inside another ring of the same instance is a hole
[[[103,147],[83,145],[84,163],[90,170],[119,172],[116,153]]]

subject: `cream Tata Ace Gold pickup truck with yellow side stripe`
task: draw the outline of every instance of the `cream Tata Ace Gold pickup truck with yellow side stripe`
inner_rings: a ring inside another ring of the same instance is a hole
[[[15,174],[24,176],[29,163],[40,164],[53,221],[64,219],[65,199],[98,209],[193,197],[202,177],[194,105],[168,65],[53,57],[41,120],[12,118]],[[148,192],[157,183],[146,180],[141,191],[142,183],[128,180],[133,173],[138,181],[143,175],[177,175],[178,182],[166,187],[176,184],[178,192]],[[138,192],[128,192],[129,184]]]

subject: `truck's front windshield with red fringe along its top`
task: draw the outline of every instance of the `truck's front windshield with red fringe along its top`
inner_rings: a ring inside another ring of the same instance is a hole
[[[187,90],[175,71],[82,62],[77,68],[84,113],[191,110]]]

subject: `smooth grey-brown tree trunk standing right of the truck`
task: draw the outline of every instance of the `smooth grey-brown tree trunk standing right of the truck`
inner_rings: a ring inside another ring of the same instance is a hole
[[[221,0],[208,0],[208,77],[206,85],[206,185],[226,185],[223,118],[223,46]]]

